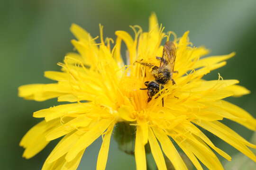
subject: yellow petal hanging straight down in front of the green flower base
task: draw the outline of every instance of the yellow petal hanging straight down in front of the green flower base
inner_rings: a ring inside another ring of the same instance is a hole
[[[137,170],[146,170],[146,153],[143,144],[143,134],[141,127],[137,127],[135,139],[135,161]]]

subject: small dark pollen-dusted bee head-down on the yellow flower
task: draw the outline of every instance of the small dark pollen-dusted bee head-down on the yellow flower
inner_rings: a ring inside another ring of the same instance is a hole
[[[146,88],[140,88],[140,90],[147,90],[147,102],[150,102],[152,97],[160,90],[162,90],[164,85],[167,84],[169,80],[172,80],[173,85],[175,84],[173,73],[178,73],[178,71],[174,71],[174,64],[176,59],[176,47],[174,42],[165,42],[162,57],[156,57],[156,59],[160,60],[159,67],[142,62],[143,59],[140,61],[135,61],[144,66],[152,68],[151,73],[155,77],[155,80],[153,81],[144,82]],[[160,94],[158,94],[155,99],[159,96]],[[164,106],[164,98],[162,98],[162,105]]]

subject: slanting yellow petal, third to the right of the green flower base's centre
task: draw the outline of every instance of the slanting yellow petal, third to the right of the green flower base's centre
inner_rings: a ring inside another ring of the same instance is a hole
[[[159,140],[167,158],[173,163],[175,170],[188,170],[180,154],[174,147],[169,137],[162,129],[153,128],[156,138]]]

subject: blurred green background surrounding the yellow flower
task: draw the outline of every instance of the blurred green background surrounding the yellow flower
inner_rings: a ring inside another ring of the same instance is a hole
[[[50,83],[43,77],[45,70],[59,70],[57,62],[65,53],[73,51],[69,31],[76,23],[91,33],[115,39],[116,30],[132,33],[129,25],[140,25],[147,30],[148,17],[155,11],[165,31],[178,36],[190,30],[195,46],[205,45],[212,55],[237,55],[227,66],[213,71],[207,79],[238,79],[251,94],[229,101],[256,117],[256,0],[0,0],[0,169],[39,170],[57,141],[35,157],[21,157],[18,146],[27,130],[39,122],[32,117],[36,110],[57,105],[56,99],[46,102],[25,101],[17,96],[20,85]],[[241,136],[250,139],[253,132],[237,123],[224,120]],[[218,137],[211,140],[230,155],[238,151]],[[94,170],[100,140],[85,152],[80,170]],[[240,157],[238,156],[238,160]],[[242,159],[240,159],[242,160]],[[222,159],[221,159],[222,161]],[[252,166],[256,166],[251,162]],[[121,153],[111,141],[107,170],[133,170],[133,157]],[[227,166],[227,169],[231,169]]]

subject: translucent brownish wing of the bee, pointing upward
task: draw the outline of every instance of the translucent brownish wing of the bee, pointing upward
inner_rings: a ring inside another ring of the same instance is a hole
[[[174,71],[174,64],[176,59],[176,47],[174,42],[165,42],[163,49],[163,56],[159,68],[167,68]]]

